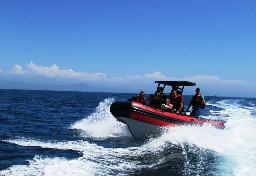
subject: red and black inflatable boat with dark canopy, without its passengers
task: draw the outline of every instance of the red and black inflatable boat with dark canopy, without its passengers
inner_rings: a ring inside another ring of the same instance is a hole
[[[158,83],[159,82],[160,81],[158,81]],[[187,81],[161,81],[161,83],[168,85],[167,82],[169,85],[173,85],[173,82],[188,83]],[[184,86],[182,90],[180,89],[181,94],[183,89]],[[224,123],[219,120],[177,115],[173,112],[165,112],[134,101],[116,101],[110,106],[110,112],[118,121],[127,124],[131,134],[138,139],[144,139],[147,136],[150,137],[159,134],[163,126],[211,124],[216,128],[225,128]]]

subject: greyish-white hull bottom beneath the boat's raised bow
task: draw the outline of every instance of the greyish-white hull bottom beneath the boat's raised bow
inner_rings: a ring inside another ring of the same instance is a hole
[[[127,124],[132,136],[135,138],[144,139],[161,134],[161,127],[158,125],[153,125],[125,117],[119,117],[119,119]]]

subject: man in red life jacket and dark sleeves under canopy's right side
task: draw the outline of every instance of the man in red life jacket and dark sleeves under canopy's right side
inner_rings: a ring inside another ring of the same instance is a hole
[[[183,97],[180,94],[177,94],[177,90],[171,91],[171,104],[173,104],[172,109],[176,110],[175,113],[184,115],[184,104]]]

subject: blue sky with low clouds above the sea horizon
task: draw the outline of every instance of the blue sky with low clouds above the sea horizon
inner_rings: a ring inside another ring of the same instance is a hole
[[[0,81],[151,93],[154,81],[188,80],[205,95],[256,97],[255,9],[256,1],[1,1]]]

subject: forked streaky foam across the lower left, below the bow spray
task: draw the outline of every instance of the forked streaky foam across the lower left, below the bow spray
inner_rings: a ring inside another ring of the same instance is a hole
[[[42,148],[73,149],[83,153],[82,157],[67,160],[60,157],[35,156],[28,160],[29,165],[16,165],[0,171],[0,175],[112,175],[129,171],[130,173],[138,168],[154,167],[163,160],[156,160],[156,163],[145,165],[143,161],[134,161],[127,158],[134,158],[139,155],[150,154],[145,145],[130,148],[104,148],[87,141],[37,141],[20,137],[19,139],[2,140],[21,146],[40,146]]]

